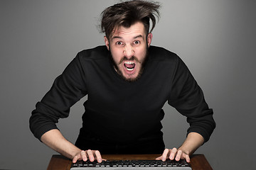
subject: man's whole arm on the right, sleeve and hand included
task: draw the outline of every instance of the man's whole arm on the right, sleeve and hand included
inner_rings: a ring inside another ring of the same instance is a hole
[[[169,105],[187,117],[190,125],[188,135],[181,147],[178,149],[165,149],[161,157],[157,159],[186,159],[190,162],[189,156],[198,149],[204,142],[209,140],[215,128],[213,111],[208,108],[204,99],[203,91],[193,79],[186,65],[177,58],[176,70],[172,79],[172,90],[169,98]]]

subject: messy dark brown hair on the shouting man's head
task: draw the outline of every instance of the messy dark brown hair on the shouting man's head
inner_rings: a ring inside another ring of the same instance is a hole
[[[110,38],[114,30],[120,26],[129,28],[132,24],[142,22],[144,24],[146,35],[156,26],[156,18],[159,19],[159,3],[152,1],[123,1],[114,4],[102,11],[101,30],[107,38]],[[152,26],[149,31],[149,22]]]

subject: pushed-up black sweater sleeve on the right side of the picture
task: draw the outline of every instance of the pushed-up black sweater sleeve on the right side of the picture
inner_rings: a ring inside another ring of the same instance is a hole
[[[172,82],[169,105],[186,115],[190,124],[188,133],[198,132],[203,136],[204,142],[207,142],[215,129],[213,110],[208,108],[203,91],[179,57]]]

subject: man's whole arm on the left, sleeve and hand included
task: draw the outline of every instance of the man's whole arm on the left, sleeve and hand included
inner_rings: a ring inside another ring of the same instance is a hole
[[[87,94],[84,83],[84,72],[80,64],[79,56],[70,62],[63,74],[55,79],[52,88],[36,104],[36,109],[30,118],[30,128],[33,135],[48,147],[63,154],[65,157],[94,161],[95,157],[101,161],[100,152],[86,150],[82,151],[68,142],[55,125],[59,118],[67,118],[70,107]]]

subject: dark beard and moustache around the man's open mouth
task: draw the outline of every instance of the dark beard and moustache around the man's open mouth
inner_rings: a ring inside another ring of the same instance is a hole
[[[114,59],[112,57],[112,53],[111,53],[111,49],[110,49],[110,60],[112,61],[112,64],[114,65],[114,69],[115,71],[117,72],[117,74],[119,74],[119,76],[124,79],[125,81],[128,81],[128,82],[134,82],[134,81],[137,81],[140,77],[142,77],[142,74],[144,72],[144,67],[146,65],[146,62],[149,58],[149,47],[146,46],[146,55],[143,57],[143,59],[141,61],[138,60],[138,58],[136,56],[132,56],[130,59],[128,59],[127,57],[122,57],[122,59],[117,63],[117,62],[114,62]],[[118,65],[121,64],[122,62],[124,61],[132,61],[132,60],[135,60],[137,62],[139,62],[141,64],[141,68],[139,69],[139,74],[137,75],[137,77],[135,78],[127,78],[127,77],[124,77],[124,75],[122,74],[121,70],[119,69]]]

